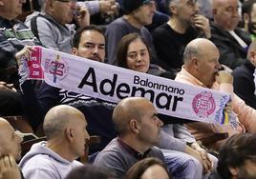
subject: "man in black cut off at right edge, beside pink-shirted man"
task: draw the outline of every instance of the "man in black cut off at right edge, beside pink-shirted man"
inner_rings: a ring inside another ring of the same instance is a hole
[[[245,104],[256,109],[256,41],[249,46],[247,61],[232,71],[234,91],[245,100]]]

